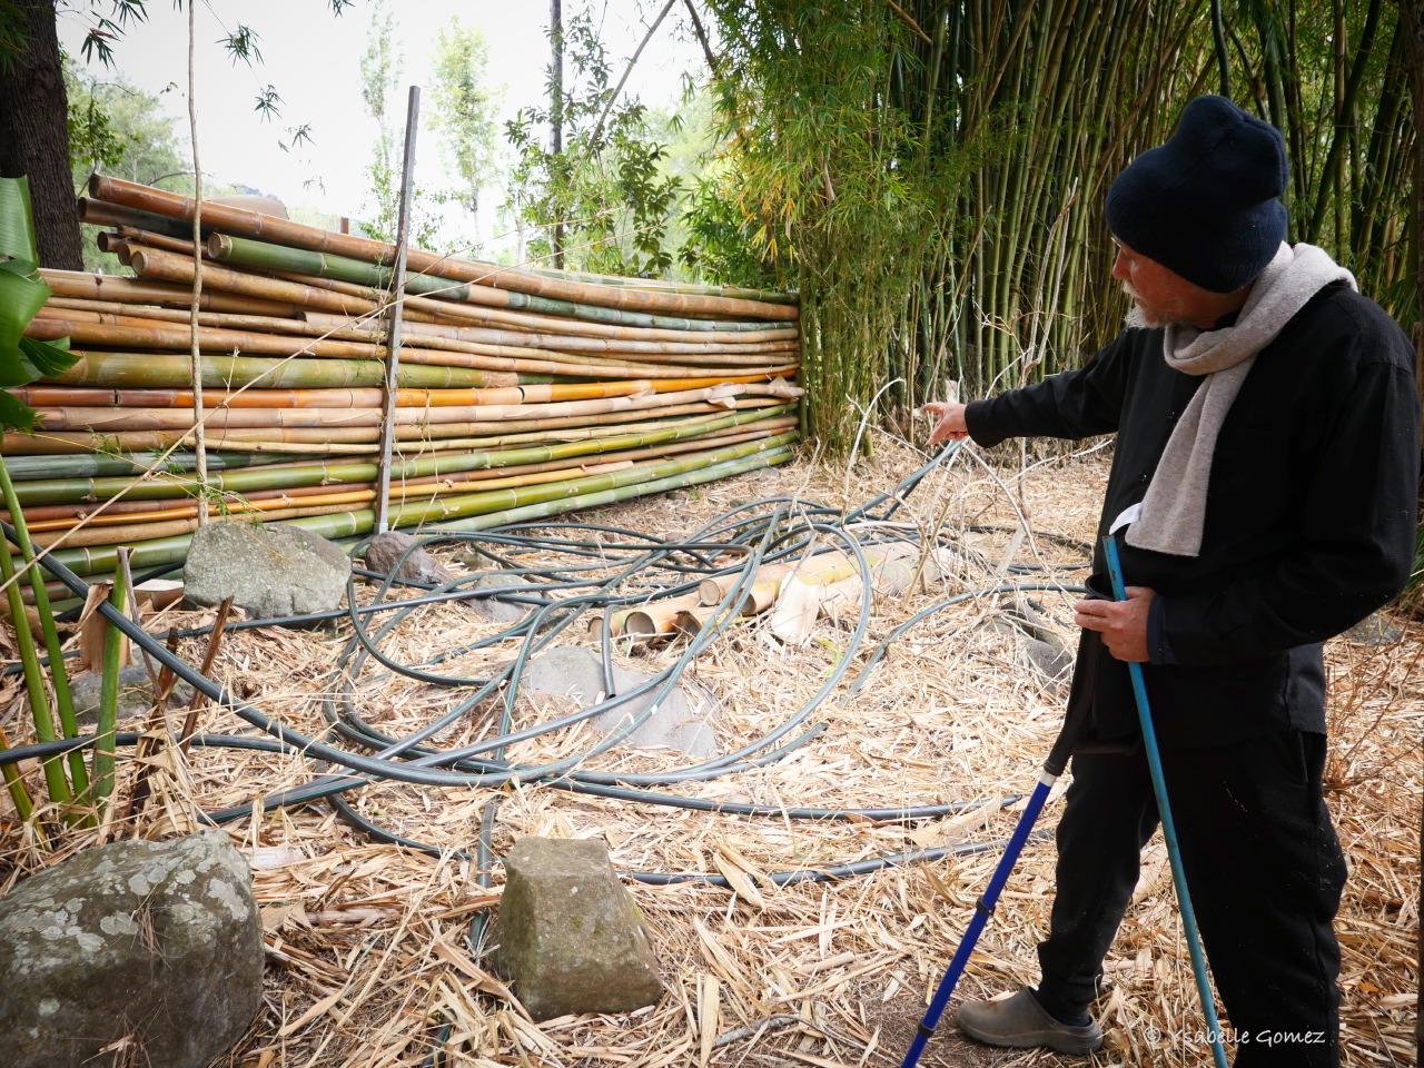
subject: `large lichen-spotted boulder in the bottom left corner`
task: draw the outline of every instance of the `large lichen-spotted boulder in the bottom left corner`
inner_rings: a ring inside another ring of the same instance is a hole
[[[209,830],[98,846],[23,881],[0,899],[0,1065],[204,1068],[262,1004],[251,879]]]

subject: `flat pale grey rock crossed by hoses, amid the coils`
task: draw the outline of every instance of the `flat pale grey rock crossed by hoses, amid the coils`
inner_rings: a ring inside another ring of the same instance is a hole
[[[641,671],[614,665],[614,695],[627,693],[652,679]],[[604,696],[604,665],[592,649],[578,645],[554,646],[530,661],[520,678],[525,693],[550,693],[572,698],[588,708]],[[632,701],[594,716],[594,726],[604,735],[637,719],[652,705],[654,686]],[[712,722],[721,711],[718,699],[684,676],[658,708],[621,745],[634,749],[675,749],[699,760],[718,755]]]

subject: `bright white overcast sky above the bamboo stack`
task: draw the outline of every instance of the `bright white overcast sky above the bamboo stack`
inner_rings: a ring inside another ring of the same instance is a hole
[[[77,4],[80,10],[87,4]],[[187,145],[188,16],[165,0],[150,0],[148,23],[130,30],[114,46],[117,68],[134,84],[161,94],[181,120]],[[661,10],[651,0],[607,0],[602,40],[614,80]],[[564,0],[565,20],[578,0]],[[399,51],[404,57],[403,84],[429,90],[436,36],[459,17],[478,27],[490,43],[490,85],[501,93],[503,118],[520,107],[543,103],[548,64],[548,4],[540,0],[396,0]],[[648,44],[625,94],[649,107],[672,107],[684,71],[705,75],[706,64],[695,40],[688,40],[682,6],[676,6]],[[359,216],[366,197],[365,168],[370,159],[375,121],[360,98],[360,56],[366,47],[370,4],[356,0],[333,17],[326,0],[206,0],[198,4],[198,148],[205,175],[252,185],[289,205],[308,205],[337,215]],[[263,63],[234,66],[218,44],[238,21],[258,33]],[[678,27],[684,27],[679,33]],[[80,44],[87,24],[77,11],[60,16],[60,41],[83,61]],[[682,37],[684,40],[679,40]],[[97,63],[88,70],[100,77]],[[282,95],[282,114],[271,122],[253,112],[258,91],[272,84]],[[429,91],[423,105],[430,107]],[[404,98],[397,105],[404,122]],[[315,144],[295,154],[278,148],[286,128],[308,122]],[[447,181],[436,138],[422,122],[416,159],[417,184]],[[325,192],[309,187],[320,178]],[[493,205],[491,205],[493,206]],[[484,212],[493,215],[493,212]],[[481,225],[487,232],[487,226]]]

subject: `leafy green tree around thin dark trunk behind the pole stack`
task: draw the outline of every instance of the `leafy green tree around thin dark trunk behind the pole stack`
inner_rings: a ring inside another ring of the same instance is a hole
[[[567,266],[649,278],[674,262],[666,231],[682,182],[641,103],[614,100],[607,50],[591,9],[564,23],[564,150],[543,140],[550,108],[524,108],[506,124],[514,150],[508,209],[533,229],[523,259],[553,261],[553,231],[564,224]]]

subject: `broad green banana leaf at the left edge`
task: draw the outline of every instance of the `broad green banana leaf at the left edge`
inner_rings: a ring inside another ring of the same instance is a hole
[[[40,342],[24,336],[36,313],[50,299],[40,281],[34,242],[34,211],[26,178],[0,178],[0,387],[53,379],[78,356],[68,342]],[[0,392],[0,427],[34,427],[34,410]]]

